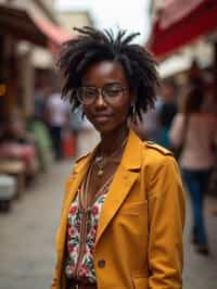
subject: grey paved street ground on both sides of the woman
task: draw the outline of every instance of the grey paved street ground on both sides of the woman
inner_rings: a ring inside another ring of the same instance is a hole
[[[41,175],[9,214],[0,215],[0,289],[48,289],[54,266],[54,236],[69,162]],[[184,289],[217,288],[217,217],[209,214],[216,200],[206,202],[212,254],[197,255],[189,243],[189,204],[186,227]],[[112,289],[112,288],[111,288]]]

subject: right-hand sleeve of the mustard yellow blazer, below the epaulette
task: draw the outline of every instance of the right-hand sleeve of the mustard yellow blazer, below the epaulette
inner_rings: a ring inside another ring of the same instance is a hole
[[[149,288],[182,288],[184,193],[175,159],[163,156],[149,187]]]

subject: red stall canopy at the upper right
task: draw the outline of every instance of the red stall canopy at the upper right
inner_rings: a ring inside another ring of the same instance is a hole
[[[216,28],[217,0],[164,0],[146,46],[164,59]]]

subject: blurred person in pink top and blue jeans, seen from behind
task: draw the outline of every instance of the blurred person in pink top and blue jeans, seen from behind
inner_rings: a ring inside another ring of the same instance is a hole
[[[199,253],[208,254],[203,205],[208,177],[215,164],[217,120],[203,112],[203,88],[193,86],[183,99],[183,112],[174,120],[170,140],[174,147],[182,144],[179,160],[192,202],[192,242],[196,244]]]

